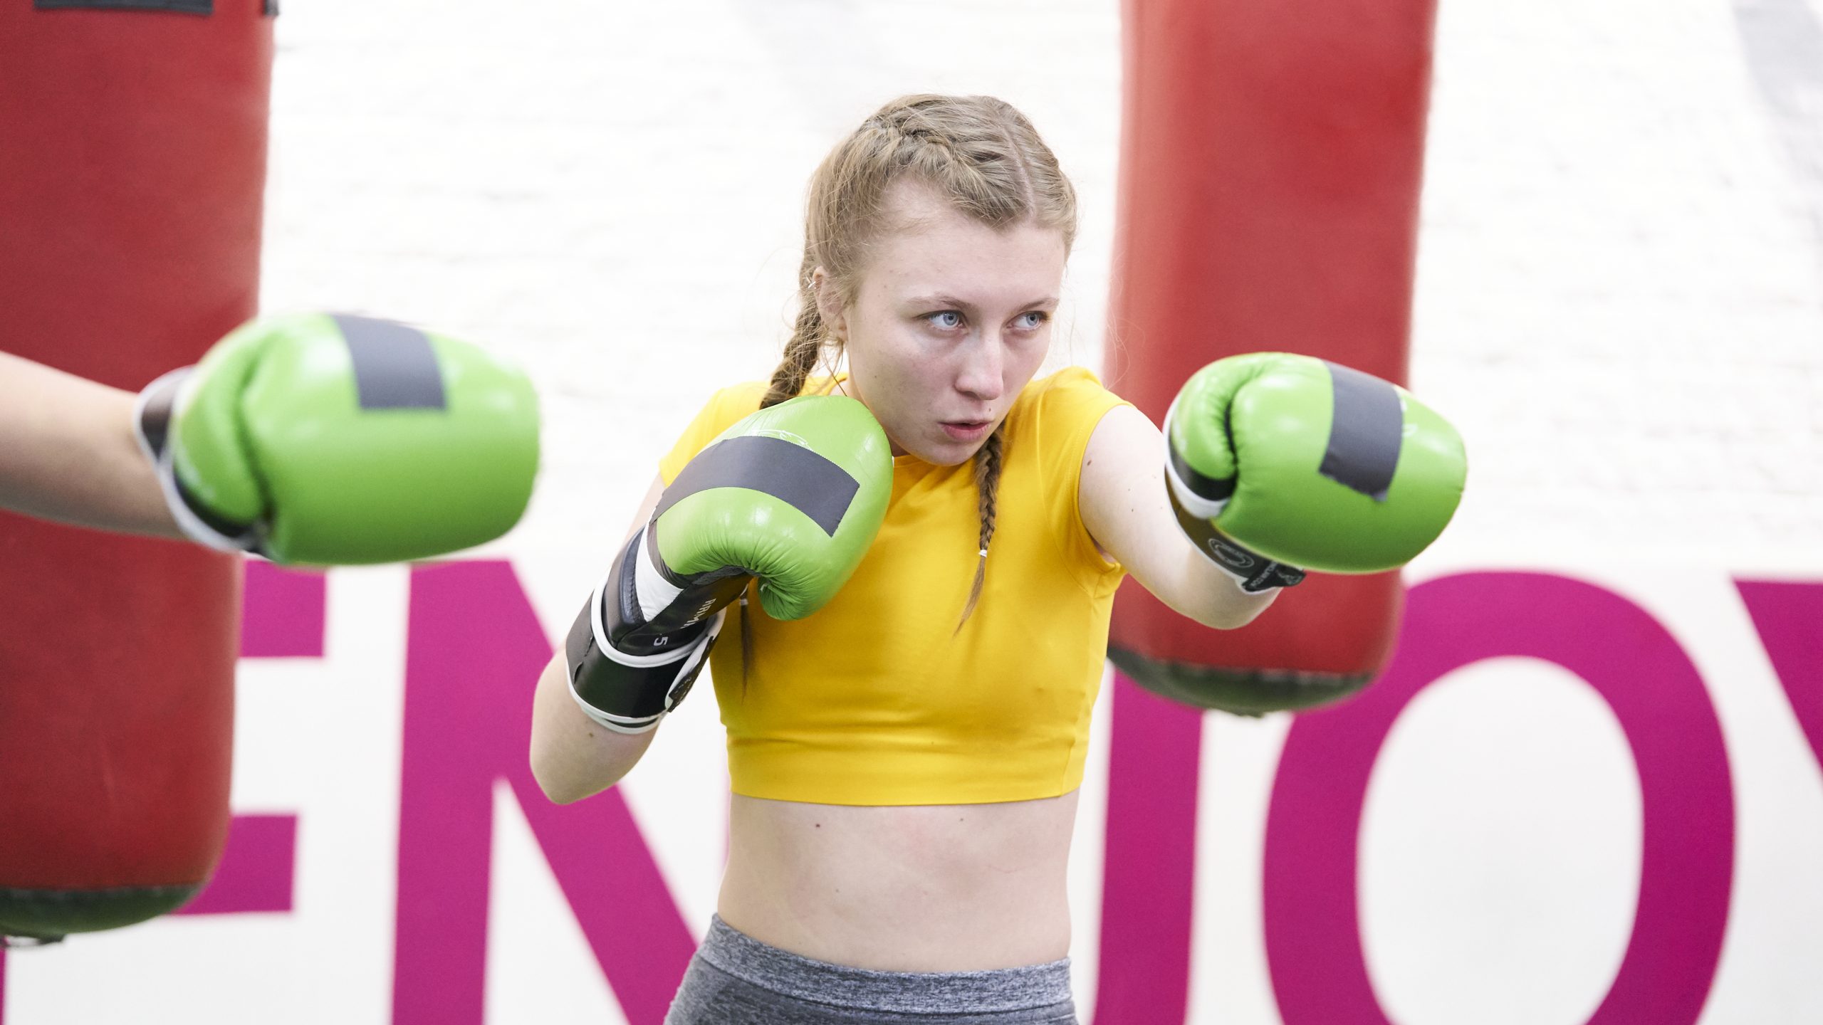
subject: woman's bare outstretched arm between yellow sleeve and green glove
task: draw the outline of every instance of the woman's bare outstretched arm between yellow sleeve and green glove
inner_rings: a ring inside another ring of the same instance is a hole
[[[1116,407],[1096,425],[1083,452],[1077,505],[1105,553],[1158,600],[1203,626],[1247,626],[1278,595],[1241,591],[1183,533],[1165,491],[1165,438],[1134,407]]]

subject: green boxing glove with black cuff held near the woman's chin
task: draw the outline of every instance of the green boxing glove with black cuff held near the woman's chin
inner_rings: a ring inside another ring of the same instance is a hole
[[[891,445],[855,399],[806,396],[735,423],[678,472],[576,616],[571,697],[607,730],[653,730],[747,582],[773,618],[815,613],[868,554],[891,491]]]

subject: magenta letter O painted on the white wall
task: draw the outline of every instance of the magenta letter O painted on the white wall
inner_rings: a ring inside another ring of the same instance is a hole
[[[1347,704],[1300,715],[1285,739],[1265,839],[1267,961],[1285,1025],[1387,1025],[1354,890],[1367,777],[1418,691],[1497,657],[1542,658],[1586,680],[1621,720],[1639,768],[1633,936],[1590,1025],[1690,1025],[1701,1014],[1728,919],[1734,795],[1695,666],[1612,591],[1539,573],[1468,573],[1415,587],[1385,677]]]

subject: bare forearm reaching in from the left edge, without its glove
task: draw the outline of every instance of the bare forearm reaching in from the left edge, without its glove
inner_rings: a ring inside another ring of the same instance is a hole
[[[133,392],[0,352],[0,507],[180,538],[133,436]]]

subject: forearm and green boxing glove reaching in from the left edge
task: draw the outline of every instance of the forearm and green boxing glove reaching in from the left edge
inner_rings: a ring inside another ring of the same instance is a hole
[[[530,498],[538,399],[465,341],[252,321],[139,396],[0,356],[0,507],[303,565],[445,554]]]

